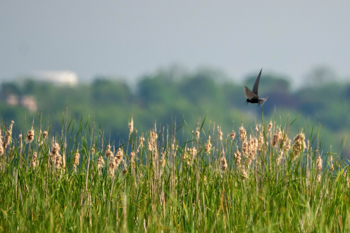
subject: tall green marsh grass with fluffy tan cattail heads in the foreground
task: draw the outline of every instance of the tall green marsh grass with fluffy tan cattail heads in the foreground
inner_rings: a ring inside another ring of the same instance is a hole
[[[318,150],[318,129],[203,123],[181,144],[175,124],[131,120],[124,142],[93,120],[16,138],[2,125],[0,232],[350,231],[348,160]]]

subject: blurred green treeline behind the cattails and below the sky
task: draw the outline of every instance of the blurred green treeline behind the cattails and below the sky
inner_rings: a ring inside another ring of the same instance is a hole
[[[202,137],[213,131],[214,122],[226,137],[232,130],[237,132],[242,121],[252,129],[255,122],[261,123],[261,107],[246,105],[243,93],[244,85],[252,88],[258,72],[247,77],[244,84],[218,78],[221,74],[208,70],[180,74],[160,71],[141,77],[134,86],[108,77],[76,86],[29,78],[3,82],[1,120],[3,126],[14,120],[18,135],[30,129],[33,117],[35,127],[40,125],[40,116],[42,128],[59,133],[65,129],[66,118],[70,127],[80,122],[85,127],[87,121],[91,126],[94,118],[96,128],[104,131],[106,138],[119,142],[128,140],[131,116],[134,127],[144,133],[155,122],[158,130],[163,127],[171,130],[176,122],[180,129],[177,136],[183,140],[191,140],[197,121],[201,125],[205,119]],[[345,138],[350,136],[350,83],[330,79],[292,90],[287,78],[262,72],[259,96],[269,97],[263,105],[267,124],[272,119],[283,128],[297,118],[289,129],[291,139],[301,128],[309,135],[313,131],[313,137],[320,132],[324,153],[330,150],[330,145],[332,152],[344,147],[343,151],[348,153],[349,142]]]

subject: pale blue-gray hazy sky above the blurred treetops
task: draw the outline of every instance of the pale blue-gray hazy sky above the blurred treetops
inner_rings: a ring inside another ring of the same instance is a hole
[[[0,1],[0,80],[42,70],[135,79],[178,63],[241,80],[318,65],[350,77],[350,1]]]

